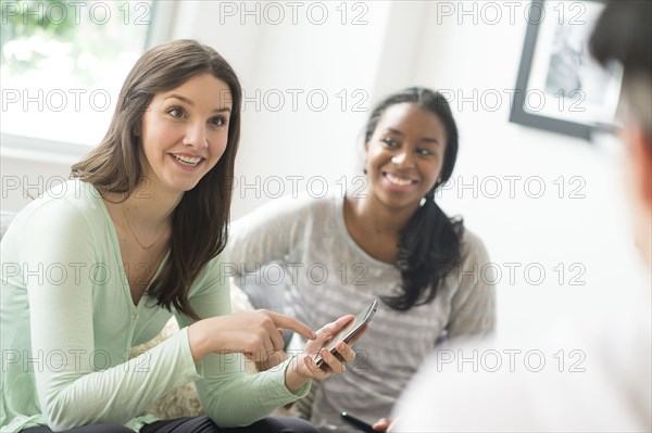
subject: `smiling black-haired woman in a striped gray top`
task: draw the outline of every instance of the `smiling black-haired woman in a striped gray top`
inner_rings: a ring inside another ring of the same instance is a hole
[[[369,423],[389,415],[437,344],[494,322],[494,279],[479,275],[485,246],[435,201],[457,155],[446,99],[425,88],[389,95],[371,114],[364,150],[365,193],[277,200],[235,221],[227,246],[238,269],[284,266],[286,305],[309,326],[384,301],[350,371],[298,403],[324,429],[350,430],[341,411]]]

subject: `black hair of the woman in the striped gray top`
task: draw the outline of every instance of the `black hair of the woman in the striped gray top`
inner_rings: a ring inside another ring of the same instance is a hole
[[[435,192],[450,179],[457,158],[457,126],[441,93],[411,87],[390,94],[372,112],[365,128],[365,143],[369,141],[385,111],[401,103],[412,103],[435,114],[446,128],[440,178],[428,191],[424,205],[414,213],[399,239],[396,265],[401,271],[403,293],[383,297],[391,308],[408,310],[435,300],[443,279],[459,265],[464,226],[461,218],[449,218],[435,202]]]

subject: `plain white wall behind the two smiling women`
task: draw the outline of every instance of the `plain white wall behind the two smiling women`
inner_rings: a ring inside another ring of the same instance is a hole
[[[456,11],[442,14],[443,3]],[[460,14],[462,3],[467,11],[476,4],[476,23],[473,13]],[[296,24],[287,2],[276,3],[285,14],[279,24],[274,24],[278,9],[264,9],[269,3],[247,3],[249,11],[260,8],[259,23],[255,13],[243,14],[242,4],[184,1],[177,4],[171,29],[171,38],[192,37],[213,46],[241,78],[248,100],[234,217],[273,200],[279,179],[284,192],[292,192],[290,176],[299,177],[298,190],[313,181],[313,192],[319,192],[316,179],[322,176],[329,189],[339,191],[338,179],[361,174],[360,133],[373,103],[402,87],[423,85],[455,97],[451,103],[461,132],[456,184],[443,192],[440,203],[450,214],[464,216],[502,272],[503,328],[548,327],[551,318],[607,306],[610,297],[597,297],[605,289],[613,298],[640,283],[623,211],[619,153],[507,122],[511,101],[505,90],[516,81],[526,29],[523,8],[516,8],[511,23],[509,10],[498,2],[503,18],[489,25],[482,22],[482,2],[348,2],[342,25],[341,9],[336,9],[342,3],[324,2],[328,18],[317,25],[318,9],[313,8],[312,22],[306,15],[312,3],[301,3]],[[355,16],[366,24],[353,25]],[[487,110],[481,100],[492,89],[503,95],[496,111]],[[292,91],[302,91],[296,110]],[[309,105],[311,91],[314,104],[319,103],[319,93],[327,95],[324,111]],[[466,102],[460,104],[460,97]],[[356,102],[362,111],[353,111]],[[62,164],[32,164],[3,155],[3,177],[67,174]],[[512,178],[515,188],[510,196],[512,176],[519,178]],[[539,180],[546,191],[534,199]],[[244,189],[242,181],[253,187]],[[502,192],[491,199],[497,186]],[[572,199],[573,192],[580,198]],[[3,201],[3,208],[23,203],[20,196],[12,198]],[[513,281],[509,266],[519,266]],[[531,273],[524,275],[527,266]],[[537,269],[544,270],[542,279]],[[572,277],[585,284],[569,284]]]

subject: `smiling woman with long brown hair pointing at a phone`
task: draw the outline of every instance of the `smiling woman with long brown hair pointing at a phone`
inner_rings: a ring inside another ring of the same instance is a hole
[[[126,78],[109,131],[75,178],[26,206],[2,239],[3,432],[312,431],[265,418],[305,395],[313,378],[352,359],[309,353],[351,317],[314,333],[259,310],[230,315],[220,253],[227,241],[241,89],[210,47],[177,40],[145,53]],[[127,360],[174,315],[180,332]],[[248,375],[279,328],[305,353]],[[195,381],[205,417],[139,417]],[[228,429],[228,430],[225,430]]]

